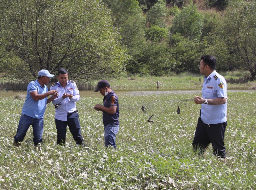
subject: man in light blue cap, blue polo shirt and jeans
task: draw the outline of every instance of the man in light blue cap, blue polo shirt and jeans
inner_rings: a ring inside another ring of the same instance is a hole
[[[43,142],[46,104],[50,103],[58,95],[55,90],[48,91],[46,86],[53,76],[49,71],[43,69],[39,71],[38,79],[28,84],[26,100],[22,107],[17,133],[14,136],[14,146],[20,146],[20,142],[24,140],[30,125],[33,128],[34,145],[37,146]],[[50,95],[52,97],[48,99],[47,97]]]

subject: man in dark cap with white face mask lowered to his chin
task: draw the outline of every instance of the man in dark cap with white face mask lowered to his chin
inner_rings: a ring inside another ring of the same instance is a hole
[[[104,96],[103,106],[96,104],[93,108],[102,111],[102,119],[104,124],[105,146],[113,146],[116,149],[116,134],[119,131],[119,104],[118,98],[114,91],[110,89],[110,84],[106,80],[101,80],[97,84],[95,92],[100,91]]]

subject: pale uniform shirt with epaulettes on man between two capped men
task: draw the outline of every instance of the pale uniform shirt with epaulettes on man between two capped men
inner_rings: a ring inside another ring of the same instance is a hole
[[[58,91],[58,97],[52,100],[52,104],[60,104],[55,108],[55,119],[67,121],[68,113],[76,111],[76,102],[80,100],[79,90],[75,81],[68,80],[65,88],[59,82],[52,84],[50,90]],[[62,98],[64,93],[73,94],[73,98]]]

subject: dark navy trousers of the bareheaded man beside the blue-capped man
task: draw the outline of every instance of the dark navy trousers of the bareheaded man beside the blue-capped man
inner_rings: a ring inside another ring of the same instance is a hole
[[[76,144],[81,145],[84,142],[84,139],[81,135],[81,126],[78,117],[78,113],[72,113],[68,114],[67,121],[55,119],[55,126],[57,129],[57,145],[60,143],[65,145],[67,125],[74,140],[76,141]]]

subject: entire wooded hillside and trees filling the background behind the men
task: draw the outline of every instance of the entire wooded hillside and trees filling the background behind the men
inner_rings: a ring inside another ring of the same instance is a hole
[[[1,1],[0,73],[68,68],[76,80],[217,71],[256,76],[254,0]]]

